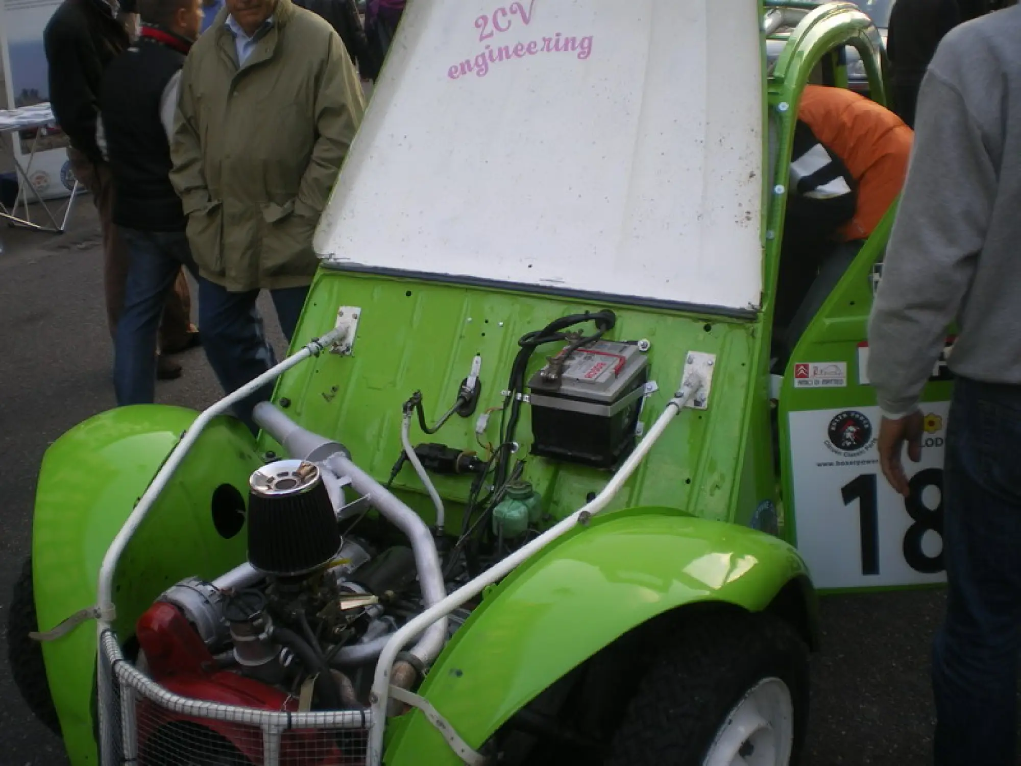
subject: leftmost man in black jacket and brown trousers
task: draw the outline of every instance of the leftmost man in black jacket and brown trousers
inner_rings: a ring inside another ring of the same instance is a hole
[[[115,0],[114,0],[115,1]],[[75,177],[93,196],[103,232],[103,287],[110,336],[115,337],[124,305],[128,254],[111,221],[113,188],[110,169],[96,143],[99,86],[107,65],[131,45],[125,17],[134,3],[114,7],[105,0],[64,0],[54,11],[43,43],[49,64],[50,102],[70,139],[67,158]],[[193,345],[188,283],[182,276],[166,303],[161,346],[167,353]],[[160,357],[160,377],[181,375],[181,367]]]

